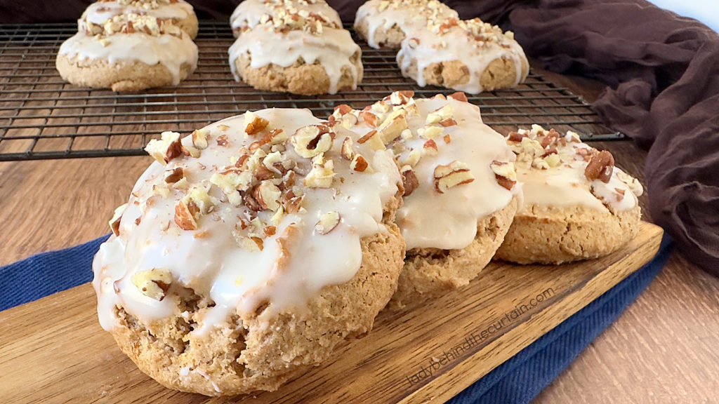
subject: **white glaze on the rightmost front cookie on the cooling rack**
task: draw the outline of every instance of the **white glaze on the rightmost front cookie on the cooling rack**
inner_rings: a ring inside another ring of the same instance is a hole
[[[484,91],[480,83],[482,72],[493,60],[510,60],[515,67],[516,77],[514,86],[526,78],[522,65],[527,65],[527,59],[521,46],[512,38],[504,35],[498,27],[480,22],[479,19],[460,21],[446,30],[437,32],[441,22],[430,23],[424,29],[419,29],[413,36],[402,41],[402,47],[397,54],[397,63],[402,74],[412,78],[421,87],[426,86],[424,70],[432,63],[460,60],[467,66],[469,81],[464,84],[452,86],[455,90],[467,93],[481,93]],[[470,26],[481,27],[485,40],[477,40]],[[510,35],[511,36],[511,35]],[[409,70],[413,60],[416,60],[416,72]]]

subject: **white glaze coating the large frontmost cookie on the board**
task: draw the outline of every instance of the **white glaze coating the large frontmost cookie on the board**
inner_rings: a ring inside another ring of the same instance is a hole
[[[299,127],[319,123],[308,110],[265,109],[257,111],[257,115],[268,119],[270,127],[290,134]],[[139,293],[131,280],[138,271],[168,270],[173,282],[209,296],[216,306],[193,331],[204,332],[221,326],[234,313],[252,313],[265,300],[270,302],[265,313],[302,306],[325,285],[347,282],[362,262],[360,239],[386,231],[381,223],[383,206],[395,196],[400,181],[393,155],[388,150],[374,152],[358,144],[356,150],[368,157],[372,173],[354,172],[349,162],[339,157],[339,148],[345,136],[357,136],[337,129],[336,140],[325,153],[326,159],[334,161],[332,188],[306,188],[305,211],[284,216],[276,233],[265,238],[261,252],[239,247],[236,226],[247,208],[229,203],[220,188],[209,185],[209,180],[212,174],[233,165],[232,157],[238,157],[239,148],[255,139],[244,137],[244,116],[224,119],[206,128],[209,147],[202,150],[200,157],[177,157],[167,166],[154,162],[145,171],[132,190],[120,221],[119,237],[111,237],[96,254],[93,286],[104,329],[112,329],[116,323],[115,306],[124,307],[143,324],[178,311],[172,295],[157,301]],[[221,134],[229,137],[227,147],[216,142]],[[308,165],[308,160],[291,147],[285,153],[298,162],[298,167]],[[152,191],[153,185],[164,185],[164,171],[175,167],[184,167],[190,183],[208,186],[210,196],[216,198],[214,210],[198,219],[196,230],[182,230],[173,221],[175,203],[184,191],[171,188],[167,197]],[[339,225],[329,234],[316,234],[316,222],[329,211],[339,212]],[[272,212],[260,211],[257,216],[267,221]],[[288,226],[296,226],[297,234],[289,239],[290,259],[283,266],[278,265],[277,240]]]

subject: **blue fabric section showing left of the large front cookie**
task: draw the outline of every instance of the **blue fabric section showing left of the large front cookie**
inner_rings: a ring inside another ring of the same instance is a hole
[[[0,311],[92,280],[92,260],[109,234],[0,267]]]

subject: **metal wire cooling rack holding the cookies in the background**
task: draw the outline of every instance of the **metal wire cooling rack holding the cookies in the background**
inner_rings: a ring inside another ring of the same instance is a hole
[[[180,86],[134,94],[90,90],[63,82],[55,70],[60,44],[75,32],[75,24],[0,25],[0,161],[142,155],[142,147],[162,131],[188,133],[247,109],[308,108],[326,117],[339,104],[363,108],[394,90],[411,89],[416,96],[454,92],[419,88],[402,77],[394,52],[374,50],[357,38],[365,65],[357,91],[256,91],[232,79],[227,49],[234,38],[225,22],[201,22],[198,68]],[[485,123],[502,133],[536,123],[587,140],[623,137],[603,127],[582,98],[534,73],[518,88],[469,99],[480,106]]]

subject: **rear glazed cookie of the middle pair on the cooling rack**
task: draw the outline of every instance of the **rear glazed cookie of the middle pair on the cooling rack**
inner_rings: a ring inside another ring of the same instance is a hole
[[[244,0],[232,12],[229,24],[234,36],[239,37],[240,33],[254,28],[264,19],[276,19],[288,11],[303,17],[316,16],[332,27],[342,27],[339,14],[324,0]]]

